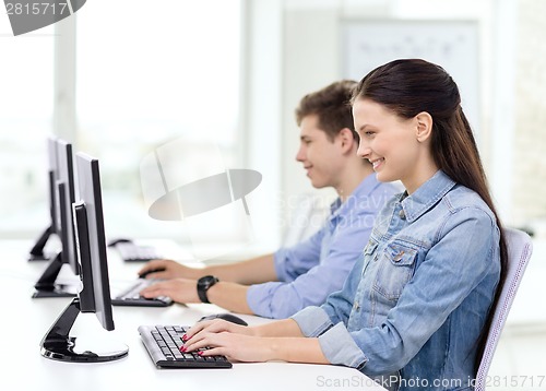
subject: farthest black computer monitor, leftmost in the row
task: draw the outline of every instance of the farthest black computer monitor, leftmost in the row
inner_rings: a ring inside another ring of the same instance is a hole
[[[59,178],[58,161],[57,161],[57,139],[49,137],[47,139],[47,177],[48,177],[48,200],[49,200],[49,218],[50,223],[47,228],[40,234],[33,248],[28,253],[29,261],[47,261],[56,257],[56,253],[45,252],[44,249],[51,235],[57,234],[57,201],[55,199],[55,187]]]

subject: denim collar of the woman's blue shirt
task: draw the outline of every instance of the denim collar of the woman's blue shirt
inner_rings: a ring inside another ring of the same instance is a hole
[[[443,198],[456,183],[442,170],[423,183],[413,194],[403,198],[402,209],[408,223],[419,218],[432,205]]]

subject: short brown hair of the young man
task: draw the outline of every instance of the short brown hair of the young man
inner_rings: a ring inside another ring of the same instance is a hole
[[[296,108],[298,126],[304,117],[317,115],[318,126],[330,141],[333,141],[342,129],[348,128],[358,142],[351,107],[351,97],[356,85],[356,81],[342,80],[304,96]]]

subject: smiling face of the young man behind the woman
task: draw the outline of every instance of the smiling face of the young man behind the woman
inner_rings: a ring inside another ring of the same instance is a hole
[[[299,129],[300,142],[296,161],[304,164],[311,185],[318,189],[336,187],[343,158],[339,138],[331,141],[318,127],[316,115],[304,117]]]

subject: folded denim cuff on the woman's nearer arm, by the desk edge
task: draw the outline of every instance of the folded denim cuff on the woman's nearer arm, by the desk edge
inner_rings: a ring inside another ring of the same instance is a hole
[[[342,322],[320,335],[319,343],[331,364],[360,369],[368,363],[368,358]]]

